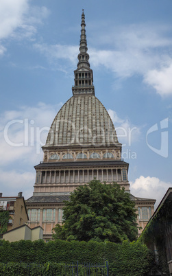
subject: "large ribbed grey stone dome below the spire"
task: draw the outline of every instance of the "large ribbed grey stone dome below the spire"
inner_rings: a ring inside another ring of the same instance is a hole
[[[45,147],[112,146],[118,142],[112,119],[95,95],[74,95],[56,115]]]

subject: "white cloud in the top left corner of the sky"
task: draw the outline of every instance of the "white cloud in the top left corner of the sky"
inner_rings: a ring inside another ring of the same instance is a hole
[[[28,0],[1,0],[0,55],[5,53],[3,44],[7,38],[33,39],[37,25],[48,15],[46,7],[31,6]]]

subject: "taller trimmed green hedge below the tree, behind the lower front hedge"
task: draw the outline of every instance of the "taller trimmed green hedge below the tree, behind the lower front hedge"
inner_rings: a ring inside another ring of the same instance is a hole
[[[43,242],[21,240],[19,242],[0,241],[0,262],[25,262],[45,264],[47,262],[79,264],[104,264],[108,260],[110,275],[142,276],[151,266],[149,249],[145,244],[124,241],[112,242],[66,242],[55,240]]]

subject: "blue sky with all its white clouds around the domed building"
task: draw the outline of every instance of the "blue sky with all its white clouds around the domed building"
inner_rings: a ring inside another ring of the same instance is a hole
[[[172,2],[1,0],[1,192],[32,196],[34,165],[72,95],[82,9],[95,95],[110,113],[134,196],[171,181]]]

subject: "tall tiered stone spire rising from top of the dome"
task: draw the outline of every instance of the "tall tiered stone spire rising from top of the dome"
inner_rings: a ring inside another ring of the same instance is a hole
[[[86,23],[85,14],[82,10],[82,23],[81,23],[81,36],[79,44],[79,54],[77,56],[77,69],[74,71],[75,74],[75,85],[72,87],[73,95],[79,94],[92,94],[95,95],[95,87],[93,86],[93,71],[90,69],[90,63],[88,62],[90,56],[87,51],[86,41]]]

